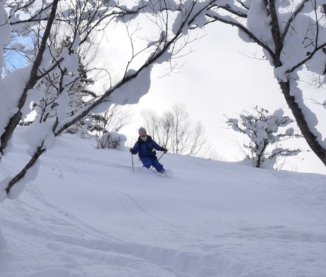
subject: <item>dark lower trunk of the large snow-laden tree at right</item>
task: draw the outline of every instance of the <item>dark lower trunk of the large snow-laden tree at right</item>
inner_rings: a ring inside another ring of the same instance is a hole
[[[322,163],[326,166],[326,149],[320,145],[317,137],[313,134],[313,132],[310,131],[301,108],[298,106],[298,103],[296,103],[294,96],[291,96],[290,94],[289,81],[280,81],[279,85],[281,86],[283,96],[286,98],[288,107],[291,109],[294,118],[296,118],[298,127],[300,128],[303,137],[305,137],[305,141],[308,143],[309,147],[313,150],[317,157],[322,161]]]

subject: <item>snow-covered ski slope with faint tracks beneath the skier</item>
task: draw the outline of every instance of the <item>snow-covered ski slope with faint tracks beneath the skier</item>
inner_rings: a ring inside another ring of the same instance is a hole
[[[162,177],[92,144],[58,138],[0,203],[0,277],[326,276],[326,176],[168,153]]]

